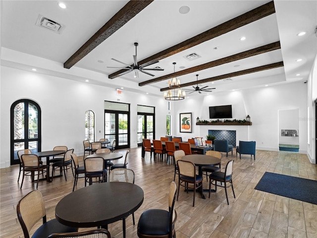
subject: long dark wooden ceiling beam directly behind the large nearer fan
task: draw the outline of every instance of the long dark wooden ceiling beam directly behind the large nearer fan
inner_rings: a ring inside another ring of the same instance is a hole
[[[194,36],[188,40],[185,40],[175,46],[172,46],[166,50],[163,50],[153,56],[150,56],[147,59],[141,60],[139,62],[140,65],[148,62],[155,62],[158,60],[162,60],[166,57],[175,55],[179,52],[197,46],[205,41],[209,41],[217,36],[223,35],[230,31],[233,31],[239,27],[245,26],[249,23],[257,21],[265,16],[275,13],[274,2],[270,1],[262,6],[259,6],[251,11],[248,11],[240,16],[237,16],[229,21],[226,21],[218,26],[215,26],[197,36]],[[120,69],[114,73],[111,73],[109,78],[116,78],[120,75],[124,74],[126,69]]]

